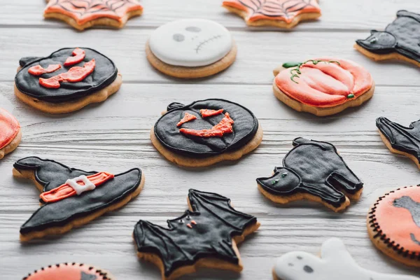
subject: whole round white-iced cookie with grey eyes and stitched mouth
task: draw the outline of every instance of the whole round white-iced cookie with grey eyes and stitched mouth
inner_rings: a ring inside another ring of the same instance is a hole
[[[148,61],[169,76],[202,78],[228,68],[237,55],[228,29],[211,20],[177,20],[153,31]]]

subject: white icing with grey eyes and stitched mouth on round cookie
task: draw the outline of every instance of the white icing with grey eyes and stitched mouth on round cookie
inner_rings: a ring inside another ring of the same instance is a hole
[[[167,64],[205,66],[230,52],[232,36],[228,29],[212,20],[177,20],[153,31],[149,46]]]

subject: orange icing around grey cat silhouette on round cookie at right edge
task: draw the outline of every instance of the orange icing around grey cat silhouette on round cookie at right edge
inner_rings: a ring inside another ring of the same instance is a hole
[[[414,202],[420,203],[420,187],[402,188],[386,195],[377,204],[375,211],[376,222],[386,238],[400,244],[405,250],[420,254],[420,245],[412,241],[414,235],[420,241],[420,228],[414,223],[412,214],[405,208],[395,207],[393,202],[403,196],[411,197]]]

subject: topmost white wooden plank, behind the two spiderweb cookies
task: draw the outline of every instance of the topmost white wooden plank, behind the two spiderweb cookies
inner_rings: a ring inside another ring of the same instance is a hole
[[[228,13],[221,7],[222,0],[141,0],[144,15],[129,20],[126,28],[144,29],[158,27],[180,18],[208,18],[216,20],[232,29],[249,29],[237,15]],[[298,25],[296,30],[370,30],[384,29],[390,23],[398,10],[420,12],[416,0],[383,1],[365,0],[337,1],[321,0],[323,15],[316,22]],[[3,3],[0,10],[0,28],[10,27],[48,27],[70,28],[63,22],[44,20],[43,0],[20,0]],[[252,28],[251,30],[267,30],[271,28]],[[277,30],[277,29],[275,29]]]

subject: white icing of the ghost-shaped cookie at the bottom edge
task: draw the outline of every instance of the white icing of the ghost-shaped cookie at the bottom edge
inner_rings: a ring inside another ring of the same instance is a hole
[[[321,258],[306,252],[290,252],[276,260],[276,276],[281,280],[420,280],[415,276],[372,272],[351,258],[338,238],[322,244]]]

